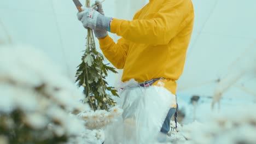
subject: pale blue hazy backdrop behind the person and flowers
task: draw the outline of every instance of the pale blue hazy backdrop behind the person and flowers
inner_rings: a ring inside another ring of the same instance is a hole
[[[106,16],[131,20],[147,2],[106,0],[103,9]],[[177,89],[183,123],[206,121],[210,112],[246,109],[256,103],[256,1],[193,3],[194,31]],[[0,44],[37,47],[74,81],[86,38],[76,14],[71,0],[0,1]],[[120,75],[121,71],[109,74],[109,85],[114,86]],[[212,110],[215,102],[220,105]]]

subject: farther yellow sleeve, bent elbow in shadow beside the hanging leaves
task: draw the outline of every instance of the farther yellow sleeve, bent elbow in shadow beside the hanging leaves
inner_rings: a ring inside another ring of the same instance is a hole
[[[115,68],[123,69],[129,49],[129,41],[120,38],[118,43],[115,44],[114,40],[107,35],[106,38],[99,39],[99,42],[100,48],[108,61],[112,63]]]

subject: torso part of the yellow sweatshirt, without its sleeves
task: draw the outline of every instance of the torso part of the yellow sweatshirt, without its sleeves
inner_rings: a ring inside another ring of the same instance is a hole
[[[151,0],[136,13],[133,19],[152,19],[165,1]],[[191,9],[191,15],[189,16],[194,17],[193,9]],[[179,33],[166,45],[131,42],[124,65],[122,81],[135,79],[138,82],[143,82],[164,77],[167,80],[165,81],[165,87],[175,94],[176,80],[181,76],[185,63],[185,56],[193,29],[193,20],[181,23],[181,25],[186,26],[179,30]]]

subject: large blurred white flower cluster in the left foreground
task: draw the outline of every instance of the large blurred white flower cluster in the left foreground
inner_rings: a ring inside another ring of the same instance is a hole
[[[82,119],[69,115],[90,111],[88,104],[79,102],[84,95],[43,52],[30,46],[4,46],[0,57],[0,116],[18,109],[28,127],[46,127],[58,136],[79,136],[86,130]]]

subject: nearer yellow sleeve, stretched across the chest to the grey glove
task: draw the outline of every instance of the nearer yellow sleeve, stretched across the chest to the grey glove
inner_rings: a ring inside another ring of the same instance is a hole
[[[153,17],[132,21],[113,19],[110,32],[133,43],[168,44],[183,28],[182,22],[192,7],[191,1],[166,0]]]

